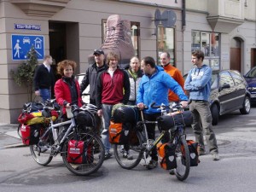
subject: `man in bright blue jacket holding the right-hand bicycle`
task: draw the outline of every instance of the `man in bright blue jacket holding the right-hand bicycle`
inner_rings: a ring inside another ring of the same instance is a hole
[[[150,56],[143,58],[141,62],[144,75],[140,82],[139,90],[137,92],[137,106],[140,109],[148,106],[145,109],[144,119],[155,121],[160,116],[160,111],[157,108],[151,108],[150,105],[155,102],[159,106],[162,103],[168,105],[168,90],[172,90],[180,99],[183,107],[188,105],[188,98],[184,94],[182,87],[177,84],[177,81],[164,72],[162,67],[155,65],[154,59]],[[155,125],[147,125],[148,138],[155,138]],[[157,166],[157,151],[156,148],[152,150],[151,160],[147,166],[148,169],[153,169]]]

